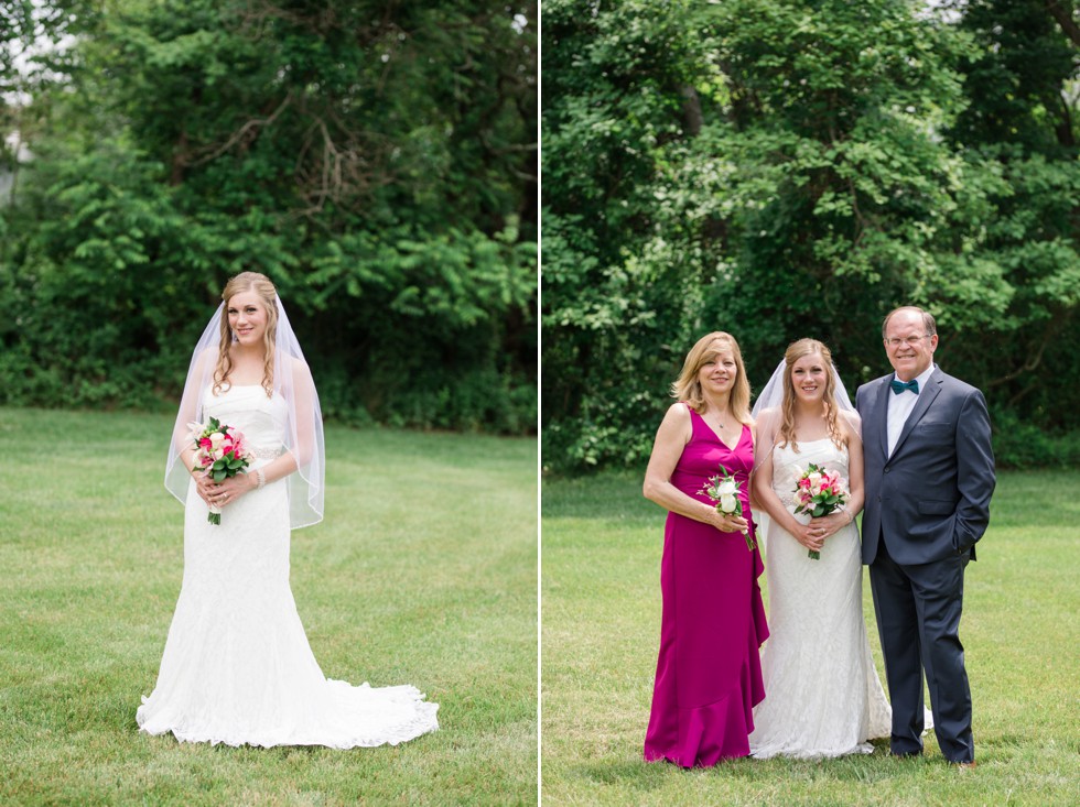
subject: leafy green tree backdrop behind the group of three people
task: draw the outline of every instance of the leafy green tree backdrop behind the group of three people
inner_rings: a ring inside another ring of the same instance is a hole
[[[887,367],[881,319],[908,302],[1007,411],[985,335],[1052,340],[1076,309],[1074,165],[1066,149],[1017,175],[952,137],[993,50],[976,31],[895,0],[544,11],[546,464],[646,456],[703,332],[734,332],[755,384],[822,338],[854,386]]]

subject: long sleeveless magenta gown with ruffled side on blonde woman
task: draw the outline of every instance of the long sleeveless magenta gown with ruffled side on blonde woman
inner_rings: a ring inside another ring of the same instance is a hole
[[[732,450],[693,410],[690,421],[693,435],[671,483],[711,504],[698,491],[723,465],[742,482],[738,495],[749,521],[749,427],[743,426]],[[749,754],[754,707],[765,699],[758,655],[769,634],[757,585],[763,571],[760,553],[747,550],[742,533],[721,533],[668,513],[660,565],[660,656],[645,735],[646,761],[708,767]]]

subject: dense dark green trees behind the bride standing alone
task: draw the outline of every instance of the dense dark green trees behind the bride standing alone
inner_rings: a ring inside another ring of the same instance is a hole
[[[7,400],[174,394],[224,280],[256,270],[328,414],[532,428],[534,3],[69,9],[4,214]]]

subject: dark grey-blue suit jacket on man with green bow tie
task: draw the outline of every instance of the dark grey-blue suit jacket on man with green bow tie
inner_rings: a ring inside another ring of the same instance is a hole
[[[995,484],[986,401],[935,367],[889,457],[892,379],[883,375],[855,393],[865,464],[863,563],[877,557],[882,536],[898,564],[932,563],[965,549],[974,560]]]

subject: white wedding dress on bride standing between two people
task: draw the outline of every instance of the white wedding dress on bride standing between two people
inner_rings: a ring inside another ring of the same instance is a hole
[[[796,480],[814,462],[847,478],[847,449],[831,439],[777,446],[773,490],[795,510]],[[799,517],[799,516],[797,516]],[[863,570],[854,524],[828,538],[821,559],[768,520],[769,639],[762,655],[765,700],[754,710],[750,754],[823,757],[871,753],[892,710],[866,639]]]

